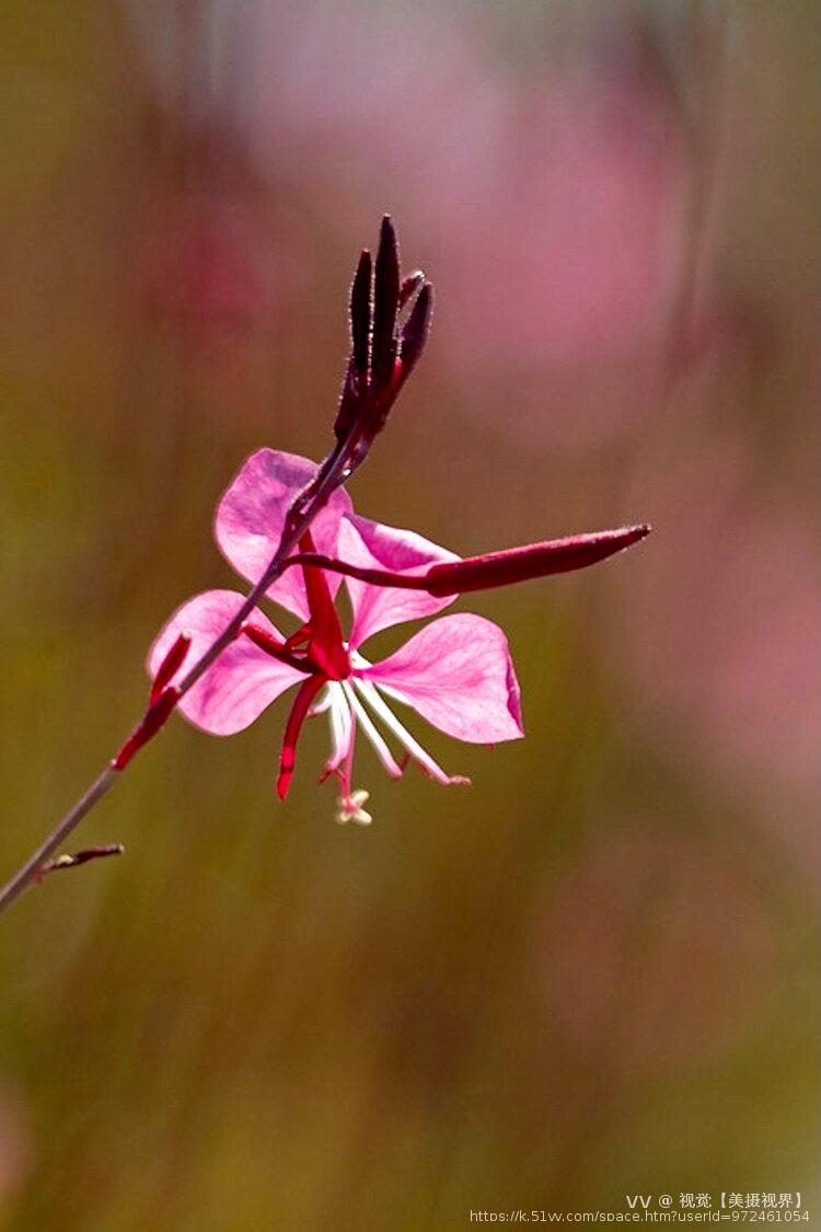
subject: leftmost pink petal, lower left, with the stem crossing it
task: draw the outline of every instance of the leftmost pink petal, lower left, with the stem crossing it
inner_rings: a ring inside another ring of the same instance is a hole
[[[149,650],[149,674],[155,675],[180,633],[187,633],[191,637],[191,649],[176,673],[177,679],[182,679],[223,632],[244,601],[244,595],[234,590],[208,590],[190,599],[177,609]],[[254,622],[266,632],[279,636],[262,612],[255,612]],[[185,695],[180,710],[204,732],[231,736],[249,727],[281,692],[303,679],[302,673],[272,659],[242,636],[223,650],[203,678]]]

